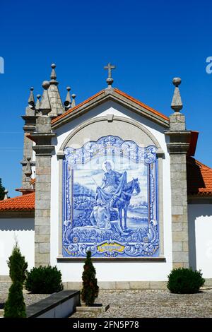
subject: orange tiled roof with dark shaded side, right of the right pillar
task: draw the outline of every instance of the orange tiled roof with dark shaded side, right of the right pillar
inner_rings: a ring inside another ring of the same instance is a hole
[[[212,168],[192,157],[187,159],[187,191],[189,195],[212,196]]]

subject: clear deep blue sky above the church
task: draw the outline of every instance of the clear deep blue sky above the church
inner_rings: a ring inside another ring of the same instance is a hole
[[[30,86],[35,95],[57,64],[59,90],[76,102],[105,88],[109,61],[114,87],[169,115],[180,91],[187,129],[199,131],[196,158],[212,167],[211,1],[12,1],[0,10],[0,177],[10,196],[21,185],[23,120]]]

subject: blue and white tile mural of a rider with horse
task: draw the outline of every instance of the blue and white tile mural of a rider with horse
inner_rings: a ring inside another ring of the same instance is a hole
[[[158,256],[155,146],[110,135],[64,153],[63,256]]]

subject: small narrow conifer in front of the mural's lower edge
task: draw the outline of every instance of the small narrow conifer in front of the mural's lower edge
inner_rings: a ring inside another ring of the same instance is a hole
[[[91,252],[87,251],[87,257],[83,266],[83,289],[81,290],[81,298],[86,305],[94,303],[98,297],[99,287],[95,278],[95,268],[91,261]]]

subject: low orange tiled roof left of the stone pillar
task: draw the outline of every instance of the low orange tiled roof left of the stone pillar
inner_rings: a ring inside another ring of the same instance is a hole
[[[0,201],[0,211],[33,211],[35,210],[35,192]]]

